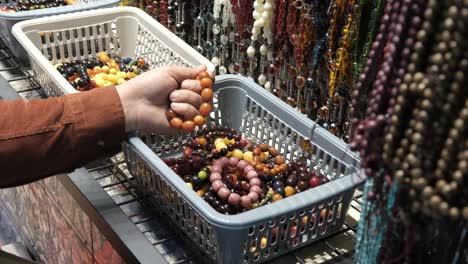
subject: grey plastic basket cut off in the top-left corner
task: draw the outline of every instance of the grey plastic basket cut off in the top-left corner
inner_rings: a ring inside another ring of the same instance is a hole
[[[0,0],[0,5],[14,3],[16,1],[17,0]],[[16,13],[0,12],[0,37],[17,58],[23,62],[26,62],[28,59],[28,53],[13,37],[11,32],[11,28],[16,23],[45,16],[112,7],[118,5],[120,1],[121,0],[76,0],[74,5],[69,6],[51,7]]]

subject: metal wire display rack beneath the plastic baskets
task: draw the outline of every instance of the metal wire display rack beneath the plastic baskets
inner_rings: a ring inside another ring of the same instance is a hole
[[[45,97],[41,87],[32,76],[30,68],[18,62],[4,44],[0,44],[0,74],[22,98],[30,100]],[[0,87],[1,92],[6,90],[4,85],[6,83]],[[85,169],[73,173],[69,178],[70,190],[78,192],[79,197],[87,199],[80,203],[85,207],[83,210],[90,214],[97,226],[99,226],[97,222],[106,222],[105,226],[110,228],[101,231],[125,260],[154,263],[154,257],[158,257],[167,263],[204,263],[203,256],[198,255],[198,252],[176,233],[176,229],[170,227],[164,217],[147,205],[147,197],[136,194],[133,186],[134,178],[128,173],[122,154],[93,162]],[[88,190],[87,193],[84,186],[93,187],[94,192]],[[104,215],[99,211],[99,206],[94,204],[97,201],[93,200],[97,195],[101,197],[101,200],[102,197],[112,199],[115,209],[120,209],[113,210],[118,215]],[[362,201],[359,191],[355,195],[346,223],[340,232],[270,263],[352,263],[357,219],[359,219]],[[97,212],[90,213],[90,210]],[[116,217],[127,218],[128,221],[124,223],[110,221]],[[154,248],[154,252],[143,252],[135,246],[139,242],[147,244],[147,241],[130,240],[123,235],[133,234],[132,231],[140,233],[135,233],[132,237],[143,240],[146,238]]]

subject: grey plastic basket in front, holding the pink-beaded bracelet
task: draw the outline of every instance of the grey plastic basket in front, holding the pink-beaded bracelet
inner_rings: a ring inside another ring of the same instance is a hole
[[[181,154],[189,137],[181,134],[133,136],[126,141],[127,166],[136,178],[137,189],[149,195],[152,203],[217,263],[264,262],[340,230],[354,191],[364,180],[358,176],[356,154],[247,78],[218,76],[214,88],[217,101],[210,122],[240,130],[257,143],[267,142],[287,160],[306,157],[308,165],[320,169],[331,182],[238,215],[223,215],[162,161]],[[304,150],[300,143],[307,138],[312,146]],[[319,217],[322,212],[325,219]],[[290,234],[295,220],[301,222],[296,236],[272,241],[273,229]],[[267,237],[265,248],[260,247],[262,237]]]

